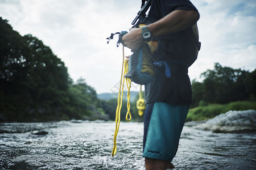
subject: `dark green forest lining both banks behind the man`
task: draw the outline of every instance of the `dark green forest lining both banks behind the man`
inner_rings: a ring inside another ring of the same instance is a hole
[[[201,78],[201,82],[192,80],[191,108],[256,100],[256,70],[215,63]],[[133,120],[142,121],[135,102]],[[123,100],[122,120],[126,103]],[[98,99],[85,79],[73,82],[65,63],[49,46],[32,35],[21,36],[0,17],[0,122],[114,120],[116,105],[117,99]]]

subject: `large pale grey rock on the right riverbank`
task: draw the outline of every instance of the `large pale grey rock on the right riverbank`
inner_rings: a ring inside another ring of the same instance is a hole
[[[229,111],[208,120],[204,124],[197,125],[196,128],[212,130],[215,133],[255,131],[256,111]]]

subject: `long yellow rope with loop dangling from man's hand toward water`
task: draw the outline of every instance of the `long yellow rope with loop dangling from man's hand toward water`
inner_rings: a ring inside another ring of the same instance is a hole
[[[123,69],[125,67],[125,69]],[[121,120],[121,108],[122,108],[122,101],[123,101],[123,84],[125,83],[128,88],[127,92],[127,113],[126,113],[126,121],[131,120],[131,112],[130,112],[130,87],[131,87],[131,80],[125,78],[125,74],[128,72],[128,63],[127,59],[125,59],[125,46],[123,46],[123,62],[122,62],[122,71],[121,71],[121,80],[120,80],[120,87],[118,92],[118,99],[117,99],[117,109],[115,110],[115,133],[114,133],[114,146],[112,150],[112,156],[115,155],[117,152],[117,134],[119,130],[120,120]],[[122,88],[122,92],[121,92]],[[121,96],[121,97],[120,97]],[[121,99],[120,99],[121,98]],[[128,118],[129,116],[129,118]]]

